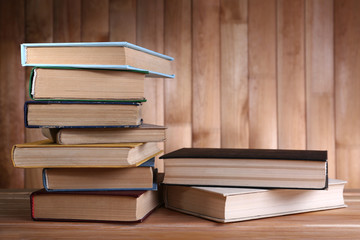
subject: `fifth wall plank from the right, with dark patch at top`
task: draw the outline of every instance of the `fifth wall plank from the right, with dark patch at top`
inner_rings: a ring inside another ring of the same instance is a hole
[[[221,0],[221,147],[249,147],[248,1]]]

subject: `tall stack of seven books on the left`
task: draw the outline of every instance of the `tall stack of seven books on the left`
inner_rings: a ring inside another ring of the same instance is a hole
[[[172,58],[126,42],[22,44],[33,66],[25,125],[48,140],[13,147],[15,167],[43,168],[35,220],[142,221],[160,203],[155,157],[165,127],[143,123],[146,77]]]

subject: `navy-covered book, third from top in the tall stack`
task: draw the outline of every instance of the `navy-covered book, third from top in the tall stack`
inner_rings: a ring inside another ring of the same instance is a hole
[[[142,122],[139,102],[27,101],[28,128],[136,127]]]

